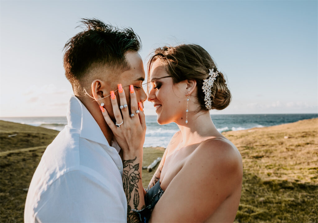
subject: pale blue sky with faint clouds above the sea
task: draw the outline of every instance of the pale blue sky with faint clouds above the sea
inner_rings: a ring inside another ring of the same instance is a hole
[[[317,113],[317,1],[1,1],[0,116],[65,116],[62,48],[80,18],[132,27],[144,62],[196,43],[233,99],[212,114]],[[155,115],[150,102],[146,114]]]

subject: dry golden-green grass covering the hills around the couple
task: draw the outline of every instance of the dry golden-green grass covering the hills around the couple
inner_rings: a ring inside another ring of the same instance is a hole
[[[45,150],[39,146],[48,145],[58,132],[4,121],[0,127],[0,221],[23,222],[24,189]],[[243,158],[243,188],[235,222],[318,222],[318,119],[224,135]],[[8,154],[30,147],[30,151]],[[163,153],[164,148],[144,148],[143,166]],[[142,171],[144,187],[153,174]]]

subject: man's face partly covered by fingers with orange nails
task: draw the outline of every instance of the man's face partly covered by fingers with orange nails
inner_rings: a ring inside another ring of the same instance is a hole
[[[115,91],[118,105],[120,105],[117,84],[121,84],[125,91],[128,108],[130,110],[130,96],[129,96],[129,85],[134,85],[137,103],[143,102],[147,99],[147,95],[142,88],[142,82],[145,80],[145,71],[143,69],[142,58],[138,52],[128,51],[125,53],[125,58],[130,65],[130,69],[122,72],[118,75],[109,75],[107,77],[107,92],[103,93],[104,97],[110,94],[110,91]],[[109,116],[114,119],[113,109],[110,101],[110,96],[103,99],[105,103],[105,108]]]

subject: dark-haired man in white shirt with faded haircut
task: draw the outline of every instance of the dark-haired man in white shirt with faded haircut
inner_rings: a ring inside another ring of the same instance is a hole
[[[126,92],[134,85],[137,100],[146,100],[141,43],[131,29],[119,30],[97,19],[82,23],[84,30],[65,45],[65,74],[75,95],[68,105],[68,124],[47,147],[33,175],[26,223],[127,221],[120,148],[101,110],[106,108],[115,120],[108,95],[117,84]],[[129,94],[127,101],[129,108]]]

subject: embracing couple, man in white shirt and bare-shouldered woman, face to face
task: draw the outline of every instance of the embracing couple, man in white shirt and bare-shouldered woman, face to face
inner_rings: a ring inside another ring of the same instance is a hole
[[[242,158],[211,120],[231,93],[210,54],[196,44],[160,47],[145,73],[131,28],[81,22],[64,48],[74,92],[67,125],[33,175],[24,221],[233,222]],[[143,188],[146,100],[160,125],[175,122],[180,131]]]

